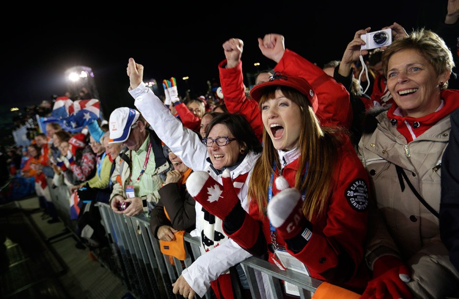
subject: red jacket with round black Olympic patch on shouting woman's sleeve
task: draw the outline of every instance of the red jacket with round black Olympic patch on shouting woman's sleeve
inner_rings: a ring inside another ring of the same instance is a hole
[[[311,220],[312,237],[300,252],[295,254],[288,248],[287,251],[305,264],[311,277],[361,292],[370,279],[364,260],[369,179],[349,140],[338,150],[338,155],[332,179],[334,187],[324,215]],[[298,171],[297,162],[298,159],[283,169],[282,175],[291,186]],[[277,176],[279,171],[276,169]],[[273,195],[277,192],[274,184]],[[356,193],[359,201],[354,200]],[[267,248],[260,246],[271,242],[269,220],[259,215],[255,200],[250,201],[249,214],[245,214],[242,226],[232,234],[225,233],[254,255],[265,253]],[[282,238],[278,237],[277,242],[285,246]],[[269,252],[270,262],[272,255]],[[344,277],[349,279],[345,281]]]

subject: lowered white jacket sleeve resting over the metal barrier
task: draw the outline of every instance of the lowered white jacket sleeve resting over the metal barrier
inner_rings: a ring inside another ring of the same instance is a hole
[[[252,256],[232,239],[201,255],[190,267],[182,271],[182,276],[200,297],[204,297],[210,282],[230,267]]]

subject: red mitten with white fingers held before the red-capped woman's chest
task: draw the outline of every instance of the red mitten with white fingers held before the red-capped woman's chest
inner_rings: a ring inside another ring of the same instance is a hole
[[[291,239],[302,233],[309,241],[312,232],[307,227],[311,223],[303,214],[301,194],[295,188],[290,188],[287,180],[280,176],[276,179],[276,187],[281,190],[268,203],[267,213],[271,224],[283,239]]]

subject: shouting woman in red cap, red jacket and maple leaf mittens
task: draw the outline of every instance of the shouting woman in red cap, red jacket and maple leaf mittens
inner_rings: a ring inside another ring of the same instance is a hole
[[[249,184],[249,213],[226,181],[224,201],[210,201],[201,192],[215,184],[206,173],[190,175],[190,194],[255,256],[275,263],[284,246],[312,277],[363,291],[369,279],[364,263],[369,184],[348,135],[320,126],[318,99],[304,78],[276,73],[250,94],[259,101],[265,132]]]

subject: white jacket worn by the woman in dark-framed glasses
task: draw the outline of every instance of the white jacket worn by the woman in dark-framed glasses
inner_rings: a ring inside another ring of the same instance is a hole
[[[158,137],[176,154],[183,163],[194,171],[207,171],[209,175],[222,183],[221,175],[217,175],[206,160],[209,156],[207,147],[202,144],[201,138],[185,127],[180,120],[177,120],[163,102],[153,91],[141,83],[136,89],[129,93],[135,98],[135,106],[142,113],[143,118],[148,121],[155,130]],[[231,171],[231,178],[234,179],[240,174],[249,173],[245,183],[239,190],[238,197],[241,200],[242,208],[248,212],[247,191],[250,176],[260,154],[248,153],[244,160]],[[201,214],[202,206],[196,202],[196,215]],[[200,221],[196,221],[196,229],[191,232],[193,237],[201,237],[202,228]],[[190,267],[184,269],[183,277],[191,288],[200,297],[203,297],[210,287],[210,282],[217,279],[220,274],[250,257],[251,254],[242,249],[232,239],[214,249],[201,255]]]

